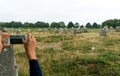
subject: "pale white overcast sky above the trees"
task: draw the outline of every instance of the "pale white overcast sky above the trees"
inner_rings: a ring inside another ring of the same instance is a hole
[[[0,0],[0,22],[101,23],[120,18],[120,0]]]

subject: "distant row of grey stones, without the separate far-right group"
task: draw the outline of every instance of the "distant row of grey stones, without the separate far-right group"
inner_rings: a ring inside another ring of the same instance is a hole
[[[7,32],[16,32],[16,34],[21,34],[23,31],[22,31],[22,28],[19,28],[17,31],[14,30],[14,28],[11,28],[9,31]],[[32,29],[28,28],[26,32],[33,32]],[[87,33],[88,32],[88,29],[86,27],[83,27],[83,28],[71,28],[70,30],[68,30],[67,28],[55,28],[53,31],[51,30],[51,28],[45,28],[45,29],[42,29],[42,28],[38,28],[37,30],[38,33],[41,33],[41,32],[47,32],[47,33],[59,33],[59,34],[67,34],[68,32],[70,32],[71,34],[80,34],[80,33]]]

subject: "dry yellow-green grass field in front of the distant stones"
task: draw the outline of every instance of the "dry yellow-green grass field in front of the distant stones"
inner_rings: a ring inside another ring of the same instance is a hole
[[[25,34],[25,32],[24,32]],[[37,39],[37,57],[44,76],[120,76],[120,32],[88,33],[32,32]],[[19,76],[29,76],[23,45],[14,45]]]

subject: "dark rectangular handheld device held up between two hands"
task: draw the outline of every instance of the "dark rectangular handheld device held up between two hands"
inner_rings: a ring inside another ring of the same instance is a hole
[[[23,44],[22,39],[26,39],[26,35],[11,35],[9,38],[10,44]]]

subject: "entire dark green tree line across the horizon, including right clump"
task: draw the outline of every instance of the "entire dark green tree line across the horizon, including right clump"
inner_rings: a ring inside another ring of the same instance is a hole
[[[36,23],[30,23],[30,22],[0,22],[0,27],[7,27],[7,28],[19,28],[19,27],[23,27],[23,28],[48,28],[48,27],[52,27],[52,28],[77,28],[77,27],[84,27],[86,26],[87,28],[100,28],[100,27],[104,27],[104,26],[108,26],[108,27],[117,27],[120,26],[120,19],[110,19],[110,20],[106,20],[104,21],[102,24],[97,24],[96,22],[94,22],[93,24],[91,24],[90,22],[88,22],[86,25],[80,25],[79,23],[73,23],[72,21],[70,21],[67,25],[65,25],[65,23],[63,21],[61,22],[52,22],[51,24],[48,22],[42,22],[42,21],[38,21]]]

